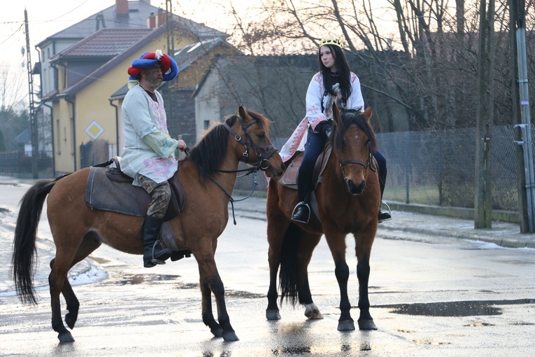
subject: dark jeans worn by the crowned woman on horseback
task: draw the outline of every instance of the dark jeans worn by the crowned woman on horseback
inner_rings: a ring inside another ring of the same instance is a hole
[[[308,137],[306,139],[303,162],[301,162],[299,174],[297,175],[297,194],[299,196],[299,202],[308,200],[308,193],[312,190],[314,165],[316,160],[318,160],[318,156],[320,156],[326,141],[327,135],[324,133],[313,132],[310,127],[308,128]],[[372,155],[377,161],[379,186],[381,190],[381,198],[383,198],[387,175],[386,159],[380,151],[373,151]]]

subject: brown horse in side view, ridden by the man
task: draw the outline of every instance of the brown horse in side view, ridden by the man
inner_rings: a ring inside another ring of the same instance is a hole
[[[192,148],[189,158],[180,161],[178,180],[187,204],[170,225],[180,249],[189,249],[199,265],[202,318],[213,335],[225,341],[238,339],[232,328],[224,301],[224,287],[215,265],[217,237],[229,219],[229,200],[241,161],[262,169],[267,176],[282,174],[283,160],[269,140],[269,124],[264,116],[240,106],[234,116],[213,127]],[[102,243],[120,251],[143,254],[138,239],[143,218],[110,211],[92,210],[85,204],[89,169],[81,169],[61,179],[42,180],[29,188],[20,204],[15,228],[13,279],[22,302],[36,303],[32,284],[36,230],[48,195],[48,222],[56,246],[48,277],[52,305],[52,328],[60,342],[73,342],[62,321],[59,295],[62,293],[69,313],[65,322],[73,328],[80,304],[67,279],[69,269],[90,255]],[[141,262],[141,260],[140,260]],[[213,316],[211,293],[217,303]]]

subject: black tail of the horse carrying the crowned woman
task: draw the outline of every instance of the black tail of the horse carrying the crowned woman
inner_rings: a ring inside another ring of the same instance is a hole
[[[280,251],[280,302],[286,298],[295,306],[299,293],[299,265],[297,261],[297,248],[301,239],[301,228],[290,223],[283,238]]]

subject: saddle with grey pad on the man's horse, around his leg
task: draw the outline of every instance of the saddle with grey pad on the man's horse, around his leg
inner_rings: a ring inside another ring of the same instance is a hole
[[[120,158],[113,159],[116,167],[90,167],[85,189],[85,202],[92,209],[113,211],[129,216],[145,217],[151,197],[143,188],[133,186],[132,179],[121,171]],[[183,211],[185,193],[176,175],[169,179],[171,201],[164,221],[169,221]]]

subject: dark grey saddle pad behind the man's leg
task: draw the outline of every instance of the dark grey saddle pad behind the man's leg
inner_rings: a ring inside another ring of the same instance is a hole
[[[138,190],[144,192],[138,186],[110,181],[104,167],[90,167],[85,186],[85,203],[91,209],[143,217],[136,198]]]

